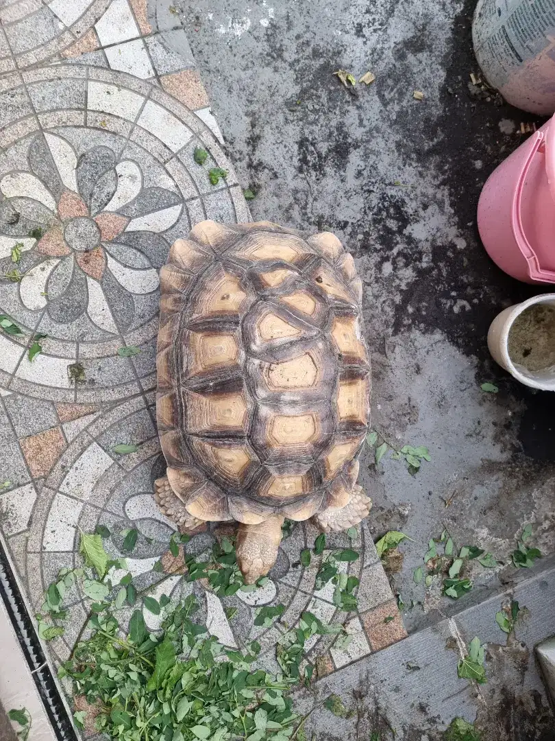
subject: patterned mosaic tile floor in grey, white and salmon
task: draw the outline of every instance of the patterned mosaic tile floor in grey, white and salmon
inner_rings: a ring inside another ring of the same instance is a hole
[[[158,270],[195,223],[250,216],[169,3],[4,2],[0,72],[0,273],[23,275],[0,278],[0,311],[21,328],[0,333],[0,478],[10,482],[0,494],[0,534],[36,611],[59,568],[75,564],[79,529],[107,525],[116,557],[119,533],[135,525],[135,583],[160,578],[152,565],[169,558],[172,524],[152,499],[164,471],[153,408]],[[198,146],[209,153],[203,166],[193,159]],[[215,166],[229,171],[216,186],[207,176]],[[43,352],[30,360],[37,334],[46,335]],[[138,354],[121,357],[126,345]],[[118,443],[138,451],[118,456]],[[203,554],[218,531],[199,532],[186,548]],[[316,534],[308,522],[295,525],[256,593],[220,600],[172,576],[153,594],[194,590],[212,634],[240,647],[258,639],[266,666],[306,609],[346,622],[346,649],[334,648],[334,637],[310,647],[320,676],[405,637],[366,526],[354,543],[360,559],[348,567],[360,578],[357,614],[337,610],[330,585],[315,590],[319,559],[300,565]],[[345,534],[328,541],[347,544]],[[70,653],[89,611],[78,591],[66,602],[66,634],[47,647],[54,662]],[[253,625],[256,607],[279,603],[286,611],[272,628]],[[224,610],[231,606],[233,620]],[[154,628],[155,617],[145,618]]]

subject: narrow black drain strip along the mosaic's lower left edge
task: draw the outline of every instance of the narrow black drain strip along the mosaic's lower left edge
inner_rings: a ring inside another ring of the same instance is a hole
[[[16,582],[10,563],[7,560],[4,548],[0,542],[0,599],[4,600],[7,613],[16,631],[21,650],[27,659],[38,694],[41,697],[44,709],[53,726],[59,741],[77,741],[70,717],[67,714],[64,702],[47,665],[44,651],[38,640],[33,622],[27,614],[27,609]]]

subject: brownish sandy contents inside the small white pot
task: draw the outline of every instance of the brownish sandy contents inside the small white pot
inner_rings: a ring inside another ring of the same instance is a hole
[[[528,371],[555,365],[555,306],[534,304],[517,316],[508,334],[508,354]]]

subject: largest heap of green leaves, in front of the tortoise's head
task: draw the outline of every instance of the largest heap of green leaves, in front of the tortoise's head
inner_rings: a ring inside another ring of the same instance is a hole
[[[287,741],[297,725],[286,697],[294,682],[251,671],[260,646],[226,650],[192,622],[197,608],[187,597],[161,634],[150,633],[136,610],[124,637],[112,615],[95,615],[92,636],[60,675],[98,708],[98,731],[118,741]],[[83,711],[76,720],[84,722]]]

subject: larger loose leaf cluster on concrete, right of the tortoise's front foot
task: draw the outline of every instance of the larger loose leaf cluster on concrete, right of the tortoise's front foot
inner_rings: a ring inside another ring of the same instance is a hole
[[[441,548],[443,547],[443,553]],[[415,584],[424,581],[427,587],[434,582],[434,576],[442,579],[443,594],[452,599],[459,599],[472,588],[472,581],[464,576],[465,565],[468,561],[477,559],[485,568],[497,566],[497,560],[492,554],[485,553],[483,548],[476,545],[463,545],[458,556],[455,554],[453,539],[444,530],[439,538],[428,541],[428,551],[424,555],[425,567],[414,569]]]

